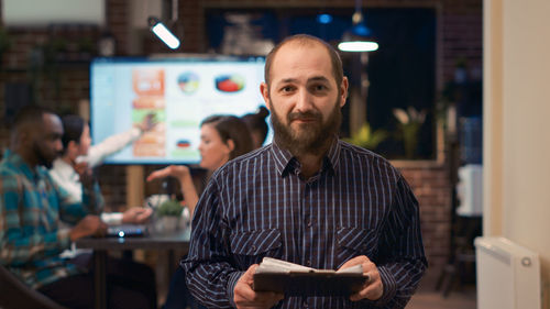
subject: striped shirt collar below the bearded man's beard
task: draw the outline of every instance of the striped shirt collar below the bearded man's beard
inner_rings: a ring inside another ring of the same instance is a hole
[[[341,141],[338,139],[338,136],[334,136],[329,151],[323,157],[321,172],[328,170],[337,173],[340,161],[340,150]],[[298,159],[288,150],[279,147],[275,140],[271,145],[271,152],[275,159],[275,167],[280,177],[286,176],[293,169],[299,167]]]

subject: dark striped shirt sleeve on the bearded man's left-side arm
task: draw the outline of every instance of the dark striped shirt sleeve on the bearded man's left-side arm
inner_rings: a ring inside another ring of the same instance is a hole
[[[212,178],[197,203],[189,254],[182,266],[187,287],[204,306],[231,308],[234,286],[245,269],[237,269],[231,263],[217,187]]]

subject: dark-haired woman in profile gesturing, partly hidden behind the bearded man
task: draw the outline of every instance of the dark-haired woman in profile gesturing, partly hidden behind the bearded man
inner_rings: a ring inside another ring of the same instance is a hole
[[[209,173],[220,168],[228,161],[252,151],[252,136],[246,124],[233,115],[211,115],[200,124],[200,164]],[[147,181],[164,177],[179,180],[182,192],[193,216],[198,192],[191,179],[189,168],[184,165],[170,165],[153,172]],[[196,308],[195,299],[189,295],[185,284],[185,272],[177,268],[172,276],[168,296],[164,309]],[[200,307],[204,308],[204,307]]]

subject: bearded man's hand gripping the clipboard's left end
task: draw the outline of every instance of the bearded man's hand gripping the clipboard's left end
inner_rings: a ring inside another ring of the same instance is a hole
[[[250,266],[237,282],[233,299],[237,308],[272,308],[285,297],[282,294],[252,289],[254,283],[252,275],[256,272],[256,267],[257,264]]]

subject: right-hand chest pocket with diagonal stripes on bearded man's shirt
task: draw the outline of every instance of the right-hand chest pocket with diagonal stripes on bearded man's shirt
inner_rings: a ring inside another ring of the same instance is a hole
[[[377,253],[378,238],[375,230],[340,228],[337,231],[337,242],[340,266],[359,255],[365,255],[373,260]]]

